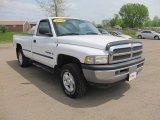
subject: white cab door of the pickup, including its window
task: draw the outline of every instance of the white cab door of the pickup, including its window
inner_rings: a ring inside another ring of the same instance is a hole
[[[41,33],[40,29],[47,29],[49,33]],[[55,48],[57,46],[57,38],[53,36],[51,26],[48,20],[42,20],[39,23],[36,36],[32,41],[32,57],[35,61],[54,67]]]

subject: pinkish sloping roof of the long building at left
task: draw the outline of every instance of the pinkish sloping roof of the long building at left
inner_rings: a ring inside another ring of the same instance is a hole
[[[24,25],[27,21],[0,21],[0,25]]]

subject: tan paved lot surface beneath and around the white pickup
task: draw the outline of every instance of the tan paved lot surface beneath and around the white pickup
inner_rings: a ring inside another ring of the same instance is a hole
[[[143,40],[146,63],[138,79],[66,97],[56,76],[18,66],[0,45],[0,120],[160,120],[160,41]]]

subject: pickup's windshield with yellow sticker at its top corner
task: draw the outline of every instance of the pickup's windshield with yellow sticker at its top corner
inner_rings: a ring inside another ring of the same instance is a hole
[[[100,32],[88,21],[77,19],[53,19],[57,36],[99,35]]]

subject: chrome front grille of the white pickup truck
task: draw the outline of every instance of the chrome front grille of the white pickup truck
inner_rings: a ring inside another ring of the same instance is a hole
[[[124,62],[142,56],[142,43],[129,42],[125,44],[114,44],[109,48],[109,63]]]

